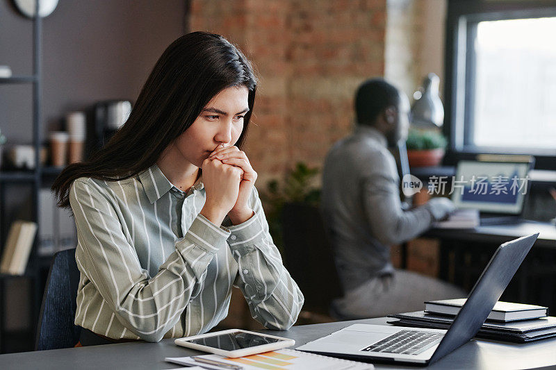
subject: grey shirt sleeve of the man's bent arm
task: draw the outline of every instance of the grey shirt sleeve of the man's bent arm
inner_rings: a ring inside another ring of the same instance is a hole
[[[393,158],[373,153],[373,170],[361,182],[363,210],[373,235],[382,244],[400,244],[430,227],[432,215],[426,207],[404,210],[399,178]]]

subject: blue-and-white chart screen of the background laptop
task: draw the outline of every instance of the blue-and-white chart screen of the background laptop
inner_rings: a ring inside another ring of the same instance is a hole
[[[457,208],[519,215],[528,192],[528,162],[460,160],[452,187]]]

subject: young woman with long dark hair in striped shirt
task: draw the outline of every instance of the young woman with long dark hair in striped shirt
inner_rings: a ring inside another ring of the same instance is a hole
[[[232,285],[265,327],[295,323],[303,295],[239,149],[255,92],[234,45],[184,35],[112,140],[56,179],[58,205],[71,206],[78,232],[77,325],[108,340],[205,333],[227,316]]]

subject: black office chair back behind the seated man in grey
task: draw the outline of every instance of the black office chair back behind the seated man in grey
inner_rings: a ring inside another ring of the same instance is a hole
[[[288,203],[282,218],[284,264],[305,297],[303,310],[336,316],[330,304],[343,292],[320,210],[313,205]]]

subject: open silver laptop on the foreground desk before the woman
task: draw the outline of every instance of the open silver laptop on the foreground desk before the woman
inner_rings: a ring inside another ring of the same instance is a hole
[[[538,236],[498,247],[448,330],[356,323],[295,349],[366,362],[435,362],[477,334]]]

